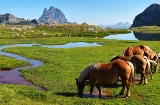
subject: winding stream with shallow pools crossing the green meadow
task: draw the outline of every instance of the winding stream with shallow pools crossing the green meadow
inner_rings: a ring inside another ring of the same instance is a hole
[[[39,46],[39,47],[48,47],[48,48],[74,48],[74,47],[101,46],[101,45],[97,44],[97,43],[86,43],[86,42],[74,42],[73,43],[73,42],[71,42],[71,43],[67,43],[67,44],[63,44],[63,45],[12,44],[12,45],[4,45],[4,46],[0,47],[0,55],[14,57],[18,60],[24,60],[24,61],[27,61],[31,64],[31,65],[27,65],[24,67],[15,68],[15,69],[12,69],[9,71],[0,71],[0,84],[25,84],[25,85],[33,86],[33,87],[37,88],[38,90],[46,91],[45,88],[36,86],[32,82],[26,81],[21,76],[21,73],[19,72],[19,70],[22,70],[22,69],[29,69],[29,68],[35,68],[35,67],[41,66],[41,65],[43,65],[43,63],[38,60],[33,60],[33,59],[25,58],[25,57],[22,57],[22,56],[19,56],[16,54],[6,53],[6,52],[2,51],[5,48],[14,47],[14,46],[25,46],[25,47],[26,46],[27,47]]]

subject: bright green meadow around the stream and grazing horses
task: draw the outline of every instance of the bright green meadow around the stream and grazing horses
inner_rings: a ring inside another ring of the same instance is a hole
[[[9,31],[7,31],[9,33]],[[2,32],[1,32],[2,33]],[[33,34],[32,34],[33,35]],[[5,37],[5,35],[4,35]],[[160,104],[160,72],[148,77],[148,85],[131,85],[131,97],[115,97],[121,87],[101,87],[103,93],[110,97],[80,98],[76,96],[75,79],[82,70],[92,63],[108,63],[115,55],[122,55],[128,46],[144,44],[152,50],[160,52],[160,41],[122,41],[107,40],[101,37],[36,37],[36,38],[1,38],[0,45],[16,43],[32,43],[44,45],[65,44],[68,42],[99,43],[101,46],[77,48],[47,48],[11,47],[4,52],[14,53],[26,58],[40,60],[44,64],[40,67],[20,70],[22,76],[34,84],[44,87],[47,91],[40,91],[32,86],[18,84],[0,84],[0,103],[2,105],[157,105]],[[1,58],[2,57],[2,58]],[[0,56],[0,69],[16,68],[27,65],[27,62],[15,58]],[[3,64],[2,64],[3,62]],[[2,64],[2,65],[1,65]],[[160,67],[159,67],[160,70]],[[95,90],[96,91],[96,88]],[[84,93],[89,92],[86,86]]]

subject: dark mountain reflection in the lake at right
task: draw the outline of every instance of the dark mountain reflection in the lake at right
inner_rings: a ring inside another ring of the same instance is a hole
[[[160,34],[133,32],[138,40],[159,41]]]

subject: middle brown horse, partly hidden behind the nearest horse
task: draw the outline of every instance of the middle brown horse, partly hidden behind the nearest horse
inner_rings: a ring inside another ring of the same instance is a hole
[[[125,60],[125,61],[130,61],[135,70],[140,70],[141,73],[141,79],[139,84],[142,84],[143,79],[144,79],[144,84],[147,84],[147,76],[150,73],[151,74],[151,78],[152,78],[152,72],[150,69],[150,62],[154,62],[152,60],[148,60],[148,58],[146,56],[141,56],[141,55],[133,55],[133,56],[115,56],[113,57],[110,62],[117,60],[117,59],[121,59],[121,60]],[[154,62],[156,63],[156,62]]]

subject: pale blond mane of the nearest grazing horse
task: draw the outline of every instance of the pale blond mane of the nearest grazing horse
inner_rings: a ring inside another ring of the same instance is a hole
[[[83,83],[92,70],[98,70],[99,65],[100,65],[99,63],[96,63],[87,66],[78,77],[78,84]]]

